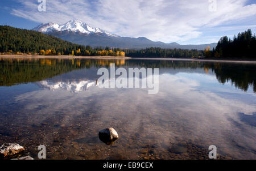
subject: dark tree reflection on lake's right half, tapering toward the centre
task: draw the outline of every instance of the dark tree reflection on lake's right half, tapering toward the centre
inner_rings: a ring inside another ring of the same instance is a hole
[[[236,88],[241,88],[244,91],[247,91],[247,89],[251,86],[253,87],[253,91],[256,92],[256,66],[253,64],[213,63],[200,61],[136,60],[136,62],[127,61],[125,65],[172,69],[201,68],[205,73],[209,73],[209,70],[212,70],[216,74],[218,82],[224,84],[230,81]]]

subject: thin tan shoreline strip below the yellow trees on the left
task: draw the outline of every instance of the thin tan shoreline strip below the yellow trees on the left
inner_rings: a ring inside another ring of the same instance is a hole
[[[114,56],[72,56],[72,55],[0,55],[0,58],[27,58],[27,59],[131,59],[130,57]]]

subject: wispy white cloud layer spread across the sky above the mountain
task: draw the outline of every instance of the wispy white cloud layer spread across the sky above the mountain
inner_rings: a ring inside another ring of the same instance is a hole
[[[164,42],[196,39],[204,29],[239,24],[256,15],[256,5],[245,5],[247,0],[217,0],[216,12],[208,10],[207,0],[48,0],[46,12],[37,11],[36,2],[20,1],[22,7],[13,9],[11,14],[42,23],[80,19],[120,36],[144,36]]]

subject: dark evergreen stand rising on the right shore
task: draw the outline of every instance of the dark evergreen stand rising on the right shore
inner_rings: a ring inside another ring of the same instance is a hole
[[[205,49],[205,57],[215,58],[256,58],[256,36],[251,29],[238,33],[233,40],[221,37],[215,49]]]

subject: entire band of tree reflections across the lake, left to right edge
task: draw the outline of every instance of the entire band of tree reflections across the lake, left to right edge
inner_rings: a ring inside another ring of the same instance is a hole
[[[110,67],[111,63],[127,67],[202,69],[206,73],[212,70],[218,82],[231,82],[244,91],[251,86],[256,92],[256,67],[250,64],[212,63],[200,61],[161,61],[161,60],[125,60],[125,59],[1,59],[0,86],[12,86],[19,83],[36,82],[78,69],[90,67]]]

